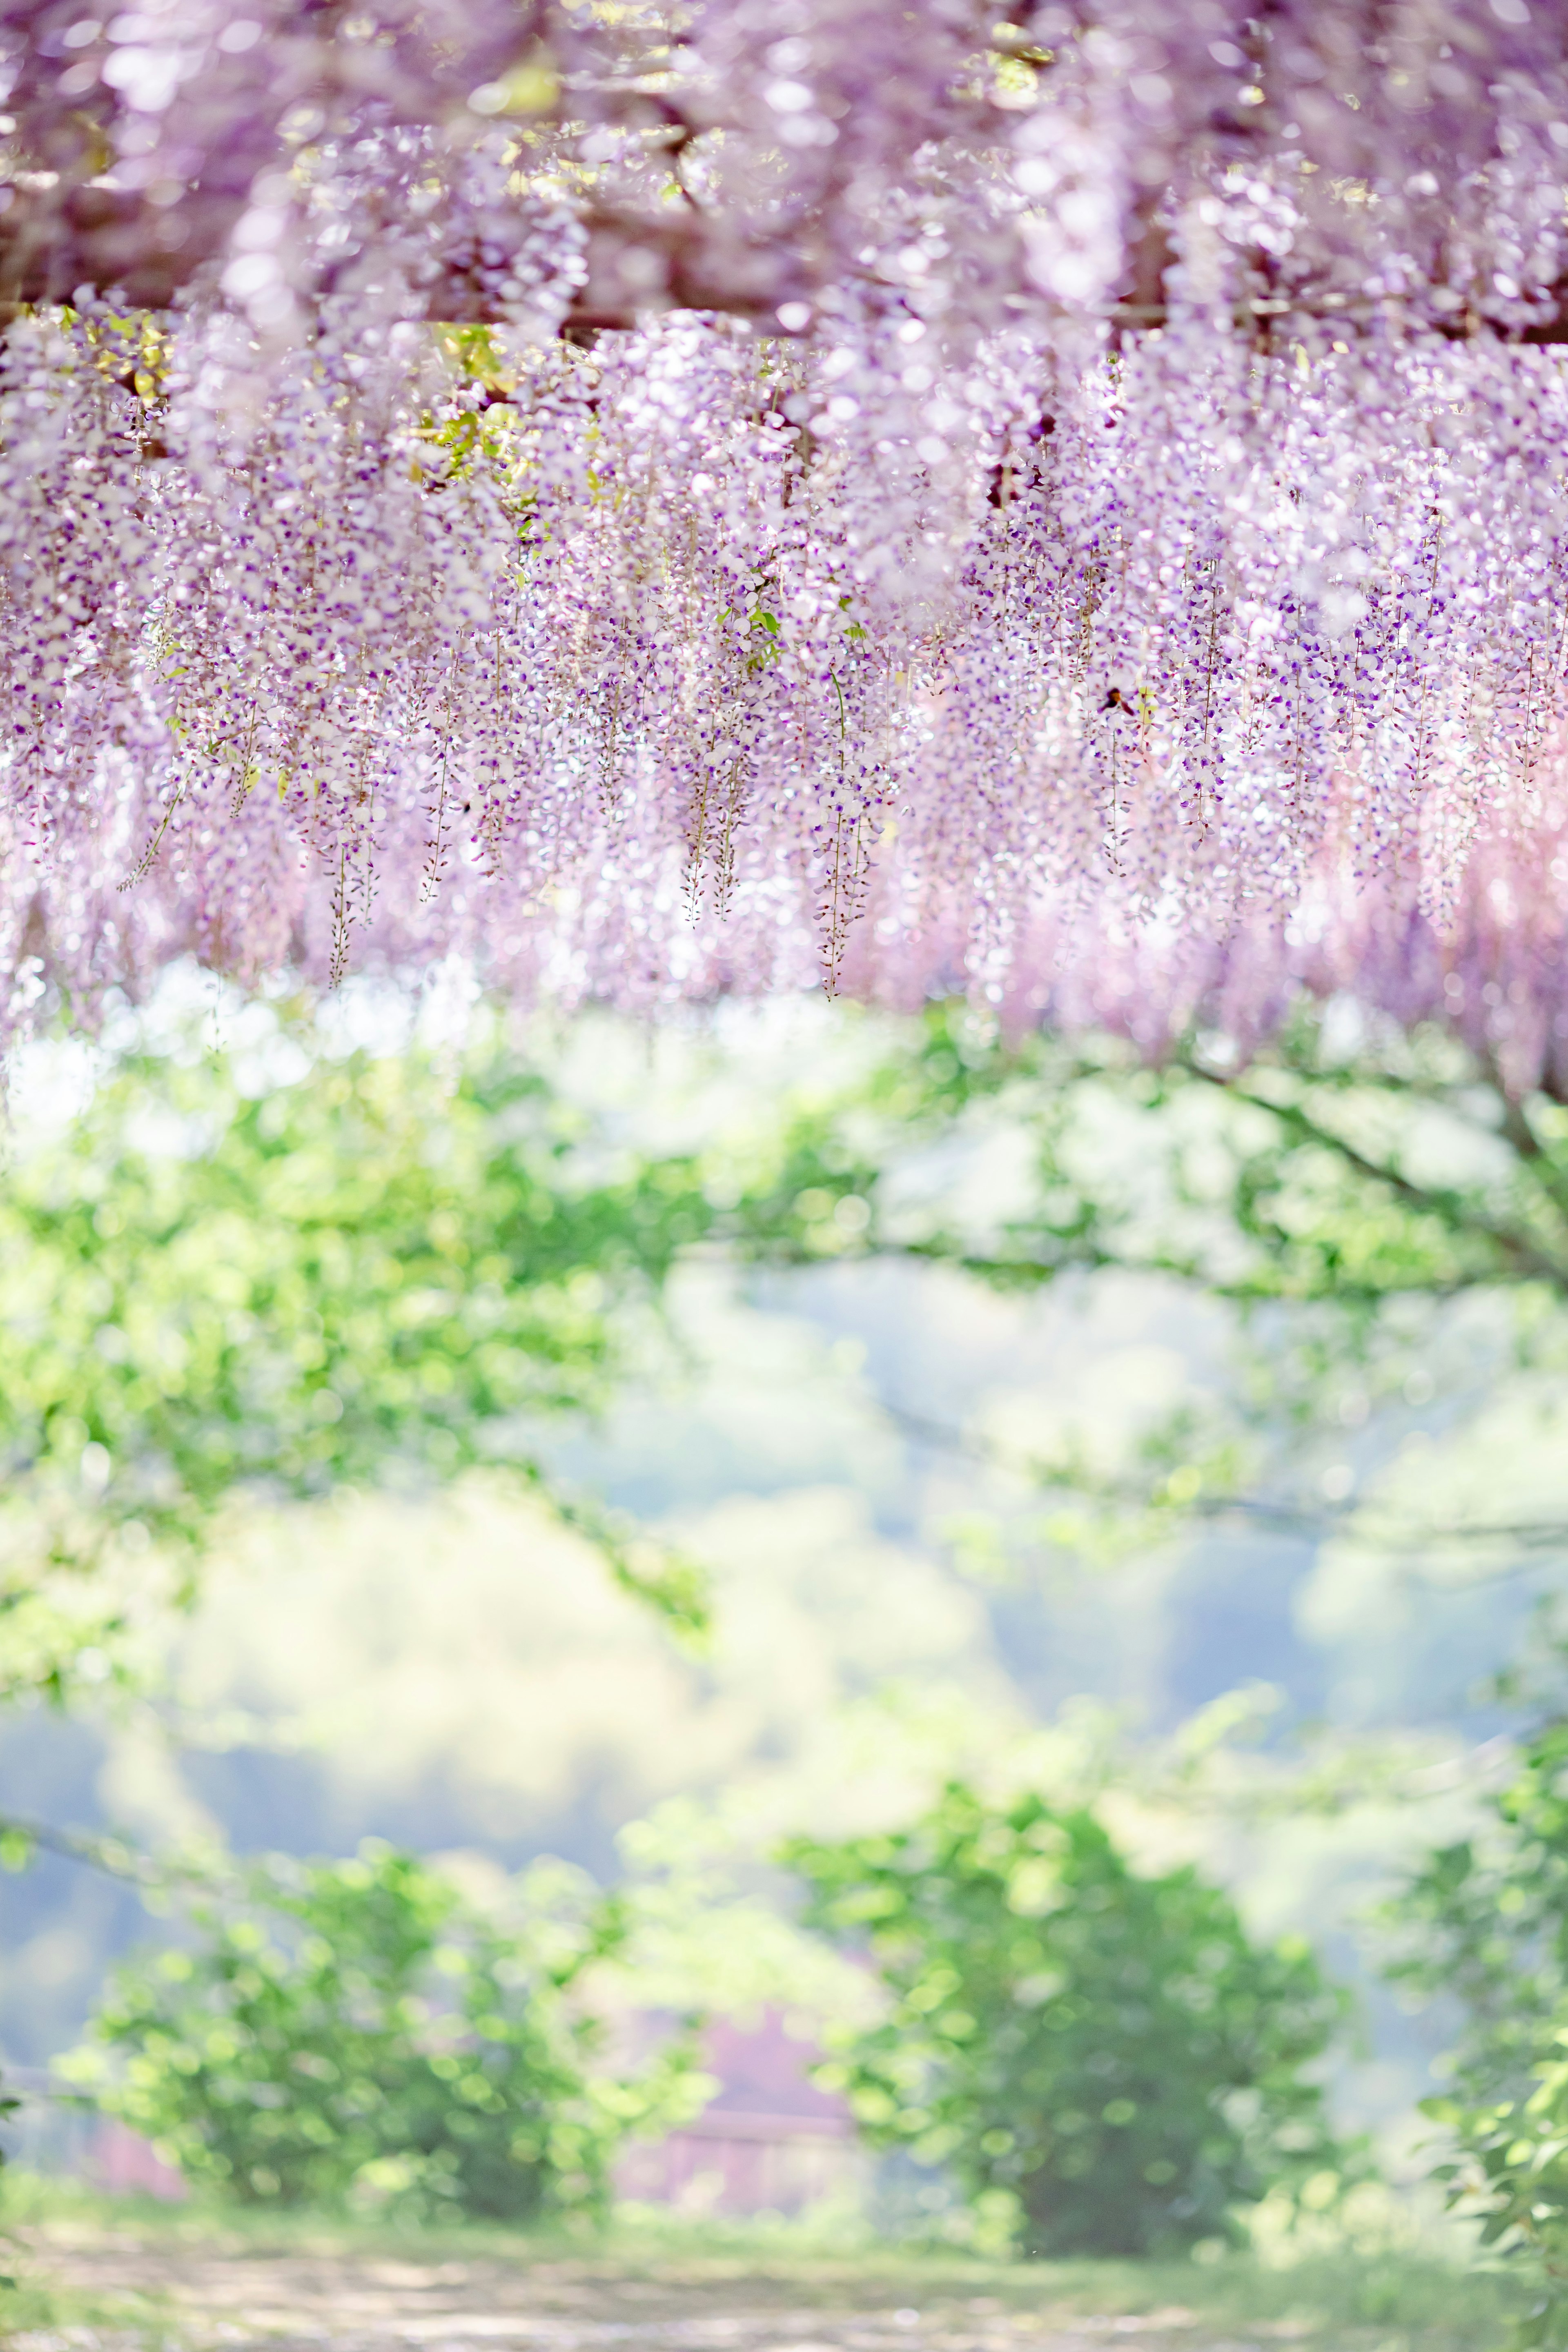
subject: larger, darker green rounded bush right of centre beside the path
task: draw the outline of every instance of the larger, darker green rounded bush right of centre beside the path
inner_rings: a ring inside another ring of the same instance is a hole
[[[1302,2067],[1342,2016],[1302,1943],[1253,1945],[1194,1870],[1135,1875],[1086,1811],[952,1785],[914,1828],[795,1842],[809,1917],[893,2002],[825,2086],[945,2164],[1030,2253],[1152,2253],[1335,2164]]]

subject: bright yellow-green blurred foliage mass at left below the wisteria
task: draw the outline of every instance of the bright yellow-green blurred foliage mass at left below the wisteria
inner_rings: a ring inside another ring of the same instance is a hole
[[[447,1477],[512,1461],[524,1416],[592,1409],[628,1310],[712,1221],[689,1155],[604,1169],[545,1087],[487,1061],[134,1058],[0,1192],[0,1689],[103,1672],[115,1581],[179,1573],[235,1489]],[[567,1512],[679,1623],[701,1581]],[[183,1566],[181,1566],[183,1564]]]

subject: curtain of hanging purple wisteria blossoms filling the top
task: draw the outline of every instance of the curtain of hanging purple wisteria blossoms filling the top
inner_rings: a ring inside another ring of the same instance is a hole
[[[9,1021],[1298,981],[1568,1087],[1559,0],[0,5]]]

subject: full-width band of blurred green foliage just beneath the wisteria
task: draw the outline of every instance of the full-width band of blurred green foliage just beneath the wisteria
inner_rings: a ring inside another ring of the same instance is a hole
[[[1455,1291],[1568,1289],[1568,1112],[1514,1103],[1450,1037],[1342,1037],[1305,1014],[1265,1061],[1192,1040],[1150,1068],[1114,1040],[1009,1042],[940,1007],[860,1040],[853,1073],[675,1152],[628,1150],[494,1044],[456,1073],[334,1061],[296,1023],[303,1075],[261,1091],[244,1056],[113,1068],[0,1195],[0,1691],[59,1698],[78,1661],[113,1668],[141,1552],[186,1573],[237,1489],[498,1458],[534,1475],[529,1425],[604,1402],[635,1310],[698,1242],[773,1263],[886,1251],[997,1284],[1128,1265],[1288,1303],[1244,1428],[1187,1411],[1131,1477],[1072,1444],[1027,1465],[1070,1498],[1051,1541],[1088,1550],[1084,1498],[1159,1536],[1225,1508],[1265,1423],[1324,1418],[1345,1381],[1396,1397]],[[999,1131],[1030,1176],[990,1221],[886,1183],[924,1138]],[[578,1522],[623,1583],[701,1628],[701,1578],[588,1503]],[[120,1576],[61,1585],[45,1562]]]

